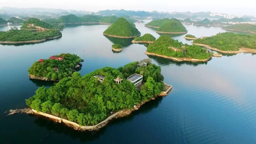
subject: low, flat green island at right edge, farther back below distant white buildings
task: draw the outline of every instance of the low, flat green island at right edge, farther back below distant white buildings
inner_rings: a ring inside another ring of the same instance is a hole
[[[234,24],[227,27],[223,27],[222,29],[256,34],[256,25],[252,24]]]

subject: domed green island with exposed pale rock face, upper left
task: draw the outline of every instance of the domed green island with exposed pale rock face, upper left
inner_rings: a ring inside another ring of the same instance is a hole
[[[50,30],[50,29],[55,29],[55,30],[62,30],[63,26],[54,26],[49,23],[43,22],[40,19],[37,18],[29,18],[26,20],[22,27],[20,29],[24,30]]]

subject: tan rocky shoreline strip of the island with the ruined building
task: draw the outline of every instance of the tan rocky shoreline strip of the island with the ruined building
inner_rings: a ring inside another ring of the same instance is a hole
[[[158,57],[163,57],[163,58],[167,58],[167,59],[172,59],[174,61],[192,61],[192,62],[206,62],[209,59],[211,59],[212,56],[210,56],[207,59],[193,59],[193,58],[175,58],[175,57],[168,57],[165,55],[159,55],[159,54],[155,54],[155,53],[149,53],[149,52],[145,52],[144,54],[146,55],[151,55],[151,56],[158,56]]]

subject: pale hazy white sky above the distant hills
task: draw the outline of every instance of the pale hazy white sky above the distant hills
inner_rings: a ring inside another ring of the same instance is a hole
[[[163,12],[207,12],[256,15],[254,0],[1,0],[0,7],[44,7],[97,12],[106,9],[125,9]]]

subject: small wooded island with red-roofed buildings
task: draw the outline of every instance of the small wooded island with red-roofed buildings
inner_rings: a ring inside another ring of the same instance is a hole
[[[74,54],[60,54],[40,59],[28,69],[32,79],[58,81],[72,76],[74,69],[80,68],[81,58]]]

